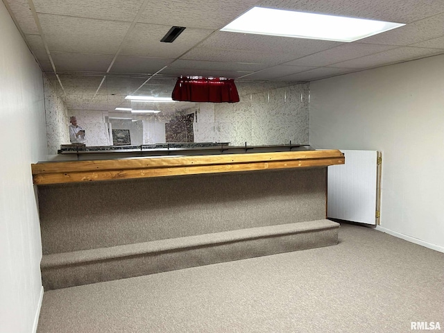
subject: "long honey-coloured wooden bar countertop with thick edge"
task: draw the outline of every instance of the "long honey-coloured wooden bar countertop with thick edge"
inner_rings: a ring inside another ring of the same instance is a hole
[[[35,185],[133,178],[327,167],[344,164],[339,150],[139,157],[31,164]]]

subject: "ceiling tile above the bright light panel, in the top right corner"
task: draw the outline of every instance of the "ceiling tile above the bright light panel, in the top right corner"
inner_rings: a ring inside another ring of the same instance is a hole
[[[264,0],[262,7],[411,23],[444,12],[441,0]]]

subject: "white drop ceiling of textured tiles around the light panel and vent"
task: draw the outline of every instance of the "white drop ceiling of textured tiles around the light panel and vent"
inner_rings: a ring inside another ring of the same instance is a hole
[[[171,96],[178,76],[308,82],[444,53],[442,0],[3,0],[69,110]],[[253,6],[405,26],[343,43],[219,31]],[[171,26],[186,29],[172,43]]]

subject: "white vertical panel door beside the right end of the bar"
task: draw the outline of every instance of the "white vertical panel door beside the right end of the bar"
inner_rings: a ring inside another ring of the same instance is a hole
[[[347,151],[345,164],[328,167],[327,216],[376,224],[377,151]]]

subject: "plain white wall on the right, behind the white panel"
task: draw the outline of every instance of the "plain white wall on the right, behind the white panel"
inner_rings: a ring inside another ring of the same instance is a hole
[[[382,151],[381,230],[444,252],[444,56],[310,84],[314,148]]]

